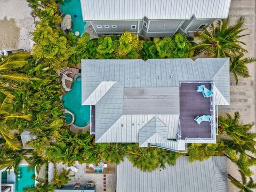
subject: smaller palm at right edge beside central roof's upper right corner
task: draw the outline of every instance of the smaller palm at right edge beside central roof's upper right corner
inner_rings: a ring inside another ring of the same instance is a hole
[[[246,64],[248,63],[252,63],[254,61],[256,61],[254,58],[243,58],[244,54],[243,53],[239,53],[237,55],[233,55],[232,57],[230,57],[230,73],[234,74],[235,80],[236,80],[236,84],[238,83],[238,76],[241,77],[250,77],[249,75],[249,70],[246,67]]]

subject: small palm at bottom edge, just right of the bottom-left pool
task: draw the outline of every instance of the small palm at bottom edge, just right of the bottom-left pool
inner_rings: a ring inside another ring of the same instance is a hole
[[[53,192],[56,188],[47,180],[35,177],[35,175],[33,175],[32,179],[37,181],[36,186],[33,185],[30,187],[25,187],[23,188],[23,192]]]

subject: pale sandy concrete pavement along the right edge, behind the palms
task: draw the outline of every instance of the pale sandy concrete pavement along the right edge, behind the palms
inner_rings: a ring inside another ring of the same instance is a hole
[[[231,21],[238,19],[240,16],[245,17],[245,31],[248,36],[241,40],[246,43],[245,49],[249,51],[246,57],[256,57],[255,53],[255,1],[254,0],[232,0],[229,9],[229,17]],[[239,78],[238,85],[235,85],[234,79],[230,81],[230,106],[220,106],[219,115],[226,113],[234,114],[239,111],[243,123],[255,122],[255,63],[247,65],[251,77]],[[256,132],[255,126],[253,131]],[[255,180],[256,167],[253,167]],[[228,173],[237,179],[241,179],[237,166],[233,162],[228,161]],[[228,191],[239,191],[230,181],[228,181]]]

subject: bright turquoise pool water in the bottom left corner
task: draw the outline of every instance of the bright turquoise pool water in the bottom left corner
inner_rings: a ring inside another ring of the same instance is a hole
[[[35,170],[28,171],[28,167],[26,165],[19,166],[18,171],[20,172],[18,174],[20,174],[20,177],[16,176],[15,192],[22,192],[24,187],[35,186],[35,180],[31,178],[35,174]],[[19,181],[18,178],[20,178]]]

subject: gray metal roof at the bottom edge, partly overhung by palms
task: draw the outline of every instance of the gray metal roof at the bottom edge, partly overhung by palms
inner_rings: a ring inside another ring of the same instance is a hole
[[[227,191],[227,158],[211,157],[190,163],[179,157],[176,165],[142,172],[126,158],[117,165],[117,192]]]

